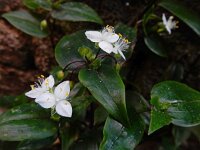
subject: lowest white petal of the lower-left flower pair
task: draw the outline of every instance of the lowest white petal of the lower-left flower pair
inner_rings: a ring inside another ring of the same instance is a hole
[[[56,105],[56,112],[64,117],[72,116],[72,106],[67,100],[59,101]]]

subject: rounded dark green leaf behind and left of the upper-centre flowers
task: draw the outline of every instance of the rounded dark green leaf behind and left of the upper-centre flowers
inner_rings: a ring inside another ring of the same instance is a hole
[[[68,69],[72,70],[83,65],[84,59],[78,53],[79,47],[83,45],[94,49],[94,43],[86,38],[84,31],[78,31],[72,35],[64,36],[55,48],[55,57],[58,64],[62,68],[71,64]]]

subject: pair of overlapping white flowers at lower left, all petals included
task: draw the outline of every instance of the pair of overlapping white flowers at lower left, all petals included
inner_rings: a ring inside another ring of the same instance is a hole
[[[43,108],[52,108],[64,117],[72,116],[72,106],[67,101],[70,92],[69,81],[64,81],[53,89],[54,78],[39,78],[39,83],[32,86],[32,90],[25,93],[26,96],[35,98],[35,102]]]

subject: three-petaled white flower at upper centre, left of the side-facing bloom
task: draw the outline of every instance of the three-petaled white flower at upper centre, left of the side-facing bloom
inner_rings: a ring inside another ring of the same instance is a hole
[[[119,36],[114,32],[112,26],[106,26],[102,31],[86,31],[85,35],[87,38],[99,44],[99,47],[104,50],[106,53],[111,53],[110,49],[112,43],[116,42],[119,39]]]

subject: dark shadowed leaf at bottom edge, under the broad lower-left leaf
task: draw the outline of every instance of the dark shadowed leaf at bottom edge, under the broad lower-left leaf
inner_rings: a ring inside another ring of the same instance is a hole
[[[42,148],[47,148],[53,144],[55,137],[48,137],[39,140],[25,140],[21,141],[17,147],[17,150],[39,150]]]

